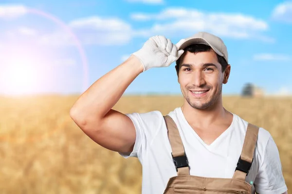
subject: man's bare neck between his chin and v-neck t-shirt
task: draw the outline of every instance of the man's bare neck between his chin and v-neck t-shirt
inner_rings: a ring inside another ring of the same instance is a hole
[[[193,108],[185,101],[181,109],[188,123],[202,127],[224,121],[230,114],[223,107],[222,100],[218,100],[213,106],[206,109]]]

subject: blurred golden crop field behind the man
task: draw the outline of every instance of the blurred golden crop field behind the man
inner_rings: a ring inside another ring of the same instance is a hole
[[[100,147],[73,123],[77,97],[0,98],[0,194],[141,193],[138,159]],[[181,96],[123,96],[114,109],[165,115],[182,103]],[[226,96],[223,104],[272,134],[292,189],[292,98]]]

